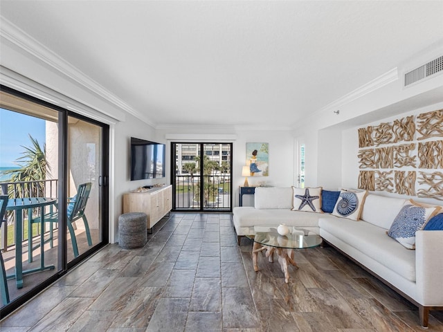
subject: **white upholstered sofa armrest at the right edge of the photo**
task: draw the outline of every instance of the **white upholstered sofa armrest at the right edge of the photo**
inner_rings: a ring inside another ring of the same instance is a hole
[[[424,306],[443,306],[443,230],[415,233],[417,302]]]

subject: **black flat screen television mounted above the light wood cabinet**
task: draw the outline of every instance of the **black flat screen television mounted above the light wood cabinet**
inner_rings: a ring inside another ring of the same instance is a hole
[[[165,177],[164,144],[131,138],[131,181]]]

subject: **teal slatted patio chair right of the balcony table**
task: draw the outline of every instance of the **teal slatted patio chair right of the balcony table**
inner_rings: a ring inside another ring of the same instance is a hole
[[[92,185],[92,183],[90,183],[90,182],[82,183],[77,188],[77,194],[75,194],[75,196],[73,196],[72,198],[68,199],[68,208],[67,208],[68,220],[67,220],[67,223],[68,223],[69,234],[71,234],[71,241],[72,241],[72,247],[73,247],[73,251],[74,251],[74,257],[78,257],[77,239],[75,238],[75,231],[74,231],[74,227],[72,224],[74,221],[77,221],[80,218],[83,219],[84,230],[86,232],[88,244],[89,244],[89,246],[92,246],[91,232],[89,231],[88,219],[87,219],[86,215],[84,214],[84,210],[86,209],[86,205],[87,205],[88,199],[89,199],[89,193],[91,192],[91,185]],[[32,221],[31,221],[31,223],[40,223],[40,222],[41,222],[41,218],[35,218],[35,219],[32,219]],[[45,223],[58,223],[58,211],[55,211],[55,212],[51,211],[47,214],[44,214],[44,222]],[[43,230],[42,230],[42,233],[43,233]],[[50,237],[46,241],[51,241],[51,248],[52,248],[52,241],[53,241],[52,228],[51,228],[51,232],[50,232]],[[38,248],[38,247],[39,247],[39,245],[33,247],[32,250],[35,248]],[[30,252],[30,255],[31,256],[33,255],[32,252]]]

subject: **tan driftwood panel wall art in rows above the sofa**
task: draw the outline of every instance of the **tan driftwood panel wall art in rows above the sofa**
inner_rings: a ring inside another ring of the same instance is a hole
[[[443,109],[359,128],[359,168],[366,169],[359,188],[443,201],[443,140],[437,137],[443,138]]]

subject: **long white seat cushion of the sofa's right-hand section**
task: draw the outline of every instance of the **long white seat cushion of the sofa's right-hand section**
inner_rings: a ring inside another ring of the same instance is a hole
[[[323,214],[324,216],[324,214]],[[386,230],[365,221],[320,217],[318,225],[398,275],[415,282],[415,251],[405,250]]]

